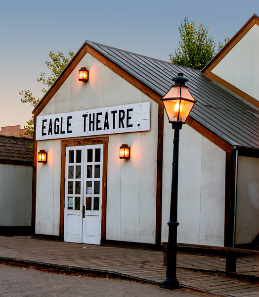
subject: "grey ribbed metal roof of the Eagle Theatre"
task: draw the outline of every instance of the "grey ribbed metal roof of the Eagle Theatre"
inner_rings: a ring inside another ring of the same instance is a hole
[[[90,41],[86,44],[124,69],[162,97],[172,77],[182,72],[194,99],[191,116],[232,146],[259,148],[259,108],[232,93],[198,70],[115,49]]]

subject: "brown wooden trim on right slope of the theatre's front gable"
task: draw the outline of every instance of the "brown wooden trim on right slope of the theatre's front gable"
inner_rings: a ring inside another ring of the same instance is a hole
[[[96,49],[93,49],[91,46],[87,45],[87,52],[92,55],[94,58],[96,58],[99,62],[103,63],[105,66],[113,70],[115,73],[120,75],[122,78],[127,80],[132,86],[136,87],[139,91],[146,94],[148,97],[156,101],[158,104],[163,105],[163,102],[161,101],[161,96],[145,86],[142,82],[138,81],[136,78],[134,78],[131,74],[129,74],[124,69],[120,68],[118,65],[116,65],[114,62],[109,60],[107,57],[103,56],[100,52],[98,52]]]

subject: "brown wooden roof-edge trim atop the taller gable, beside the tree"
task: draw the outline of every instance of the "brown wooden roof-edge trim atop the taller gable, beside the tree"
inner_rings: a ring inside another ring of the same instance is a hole
[[[234,46],[247,34],[247,32],[255,25],[259,26],[259,16],[254,14],[246,24],[230,39],[230,41],[221,49],[216,56],[202,69],[204,74],[208,74],[223,57],[234,48]]]

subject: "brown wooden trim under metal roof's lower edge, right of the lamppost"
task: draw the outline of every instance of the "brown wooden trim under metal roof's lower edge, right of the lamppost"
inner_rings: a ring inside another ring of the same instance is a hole
[[[186,124],[191,126],[194,130],[199,132],[201,135],[209,139],[211,142],[216,144],[219,148],[222,148],[224,151],[228,152],[229,154],[232,154],[233,147],[229,145],[226,141],[218,137],[216,134],[214,134],[212,131],[198,123],[195,119],[193,119],[191,116],[189,116],[186,120]]]

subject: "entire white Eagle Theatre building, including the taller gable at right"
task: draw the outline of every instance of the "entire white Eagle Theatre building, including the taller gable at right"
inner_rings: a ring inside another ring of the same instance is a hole
[[[203,72],[86,41],[34,110],[34,235],[167,241],[173,130],[161,98],[182,72],[198,102],[180,131],[177,241],[251,243],[259,233],[259,96],[240,77],[259,75],[258,30],[255,15]],[[254,42],[246,55],[244,38]],[[119,158],[123,144],[129,159]],[[41,149],[46,163],[37,162]]]

